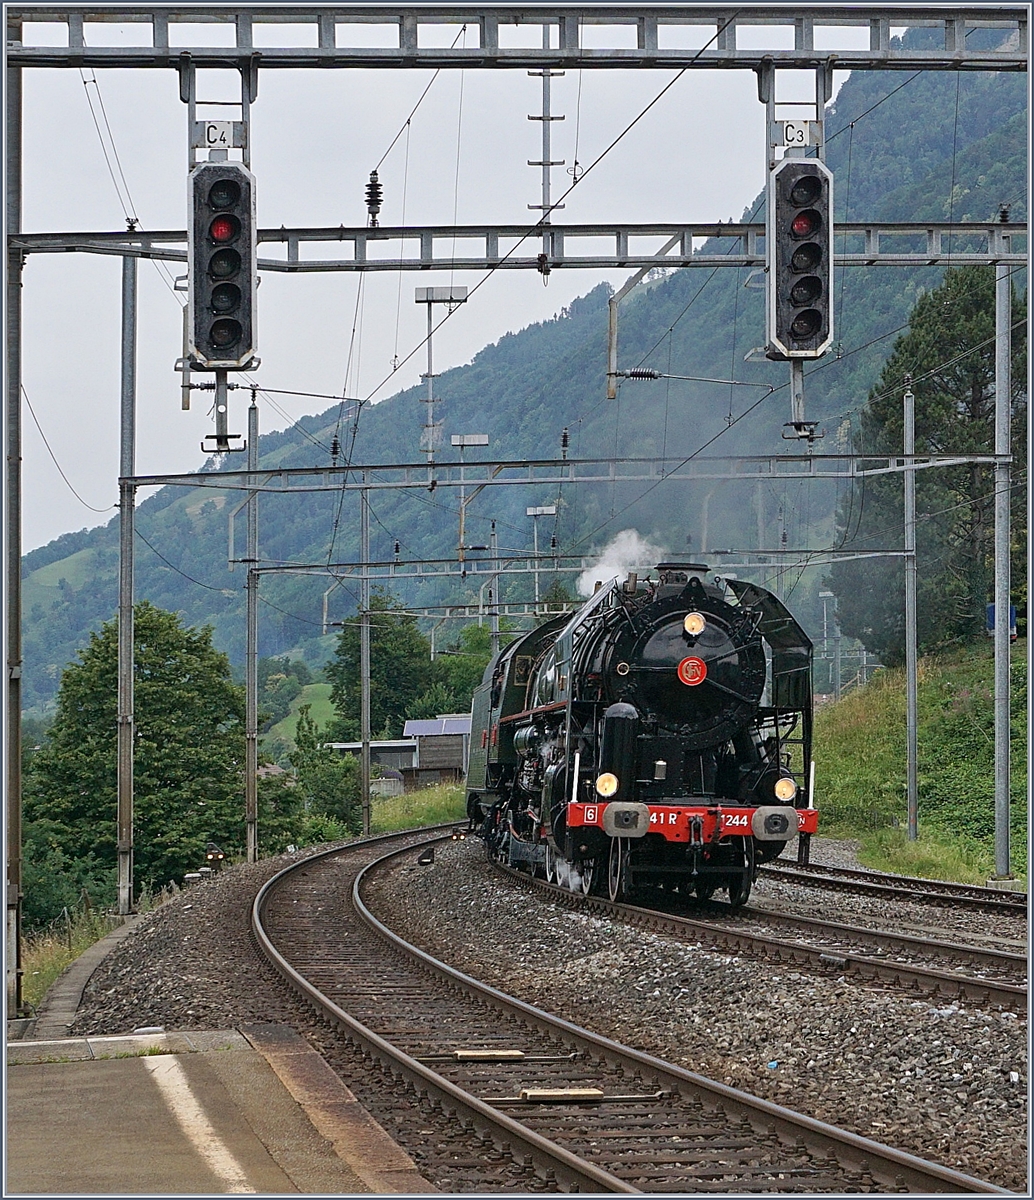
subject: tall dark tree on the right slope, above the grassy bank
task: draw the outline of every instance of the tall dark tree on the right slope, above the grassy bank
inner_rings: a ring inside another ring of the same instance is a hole
[[[1012,305],[1014,478],[1024,466],[1027,421],[1026,300]],[[994,449],[994,271],[949,270],[921,296],[861,416],[855,448],[900,452],[906,376],[915,395],[918,454],[990,454]],[[985,636],[992,599],[994,482],[990,466],[966,463],[916,472],[918,636],[922,650]],[[1026,530],[1014,492],[1014,580],[1023,577]],[[902,476],[864,479],[838,514],[843,548],[902,545]],[[840,624],[884,662],[904,655],[904,574],[898,559],[837,564],[830,576]]]

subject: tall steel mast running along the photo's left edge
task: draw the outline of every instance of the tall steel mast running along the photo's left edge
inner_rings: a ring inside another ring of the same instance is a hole
[[[7,14],[7,41],[22,19]],[[22,232],[22,68],[7,67],[7,234]],[[7,250],[7,1016],[22,1008],[22,270]]]

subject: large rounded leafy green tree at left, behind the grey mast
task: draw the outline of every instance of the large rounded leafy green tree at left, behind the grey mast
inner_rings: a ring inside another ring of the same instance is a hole
[[[65,670],[49,740],[25,780],[26,847],[38,859],[35,866],[95,883],[107,868],[109,895],[118,646],[115,619],[91,634],[79,661]],[[212,647],[211,628],[184,628],[175,613],[146,601],[134,610],[133,661],[134,875],[138,884],[157,889],[203,864],[206,841],[242,850],[245,704],[227,656]]]

